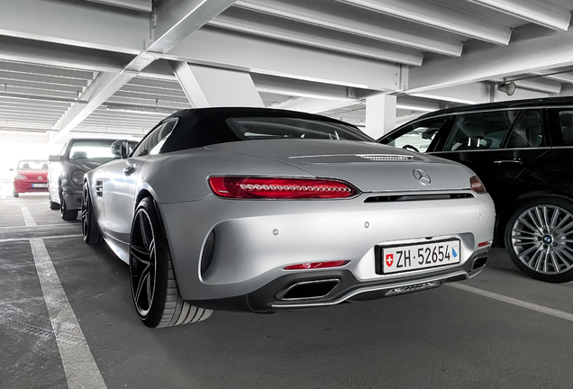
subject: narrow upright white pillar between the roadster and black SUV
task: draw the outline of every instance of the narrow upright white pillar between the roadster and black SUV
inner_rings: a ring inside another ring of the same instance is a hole
[[[366,130],[378,139],[396,127],[396,96],[374,95],[366,98]]]

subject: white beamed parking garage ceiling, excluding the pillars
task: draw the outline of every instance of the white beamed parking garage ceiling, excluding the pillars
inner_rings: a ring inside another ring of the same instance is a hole
[[[168,60],[247,72],[266,106],[364,125],[572,95],[570,0],[0,0],[0,131],[141,137],[190,108]],[[546,76],[549,75],[549,76]],[[516,80],[509,97],[496,85]],[[222,86],[224,87],[224,86]],[[313,107],[313,108],[310,108]]]

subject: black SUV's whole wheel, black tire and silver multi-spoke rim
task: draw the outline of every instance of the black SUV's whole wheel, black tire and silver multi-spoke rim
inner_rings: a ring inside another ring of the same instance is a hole
[[[573,203],[557,196],[523,202],[505,227],[505,248],[527,276],[573,281]]]

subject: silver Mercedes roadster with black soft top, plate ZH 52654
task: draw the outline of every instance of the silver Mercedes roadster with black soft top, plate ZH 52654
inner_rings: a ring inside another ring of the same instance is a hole
[[[112,149],[86,173],[83,236],[129,264],[149,327],[416,292],[487,262],[494,204],[468,167],[345,122],[193,109]]]

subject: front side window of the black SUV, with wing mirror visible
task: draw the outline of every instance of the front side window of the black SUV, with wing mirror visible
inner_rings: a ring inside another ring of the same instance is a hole
[[[402,131],[396,131],[395,134],[389,135],[383,143],[397,148],[414,148],[420,152],[425,152],[447,119],[447,116],[443,116],[415,122]]]

